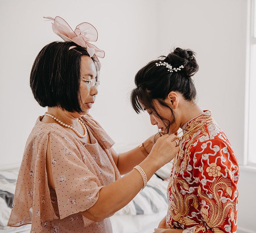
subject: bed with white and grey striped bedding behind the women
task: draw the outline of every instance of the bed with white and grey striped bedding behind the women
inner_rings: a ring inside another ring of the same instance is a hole
[[[110,217],[114,233],[154,232],[154,228],[167,213],[168,181],[164,179],[169,177],[170,167],[171,163],[159,169],[128,205]],[[17,228],[7,227],[18,171],[18,167],[0,170],[1,233],[30,232],[30,224]]]

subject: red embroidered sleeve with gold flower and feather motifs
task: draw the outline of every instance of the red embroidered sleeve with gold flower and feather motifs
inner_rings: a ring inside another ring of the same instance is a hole
[[[193,176],[198,178],[198,200],[204,222],[195,233],[236,232],[238,163],[233,149],[220,139],[198,144]]]

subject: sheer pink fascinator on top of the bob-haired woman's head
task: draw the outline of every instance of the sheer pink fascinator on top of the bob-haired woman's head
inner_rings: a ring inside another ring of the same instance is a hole
[[[56,35],[58,35],[64,41],[72,41],[77,45],[85,48],[90,57],[94,57],[100,66],[98,57],[104,58],[105,52],[97,48],[95,45],[89,43],[97,41],[98,39],[98,32],[93,25],[91,25],[90,23],[80,23],[76,26],[75,31],[73,31],[68,23],[59,16],[56,16],[55,18],[44,18],[53,21],[52,30]],[[72,47],[74,48],[74,46]],[[70,49],[72,48],[70,47]]]

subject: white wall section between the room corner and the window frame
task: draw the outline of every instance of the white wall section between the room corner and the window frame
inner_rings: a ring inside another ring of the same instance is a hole
[[[242,161],[246,1],[163,0],[157,6],[157,25],[168,25],[158,27],[158,53],[174,46],[197,53],[198,104],[212,110]]]

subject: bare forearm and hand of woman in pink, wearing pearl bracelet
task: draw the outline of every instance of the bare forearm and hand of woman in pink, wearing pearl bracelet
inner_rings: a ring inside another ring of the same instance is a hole
[[[155,143],[147,158],[139,164],[144,170],[147,180],[179,152],[179,147],[174,141],[176,138],[173,134],[163,135]],[[81,214],[97,222],[111,216],[138,194],[144,186],[142,175],[138,170],[133,169],[121,179],[101,188],[96,203]]]

